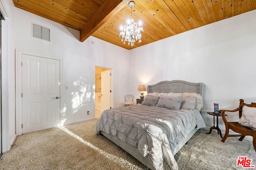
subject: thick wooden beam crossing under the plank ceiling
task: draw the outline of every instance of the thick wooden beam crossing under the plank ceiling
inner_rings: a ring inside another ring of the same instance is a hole
[[[90,35],[97,31],[106,21],[118,13],[128,0],[106,0],[90,21],[80,30],[80,41],[84,42]],[[128,7],[127,7],[128,8]]]

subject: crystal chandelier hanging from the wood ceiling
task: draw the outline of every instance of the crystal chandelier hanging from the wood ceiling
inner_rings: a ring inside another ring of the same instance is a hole
[[[129,2],[129,6],[134,7],[135,2],[130,1]],[[140,25],[140,24],[139,24]],[[131,46],[134,45],[134,42],[139,40],[138,42],[141,42],[141,33],[143,32],[143,28],[139,27],[137,28],[137,23],[134,22],[134,19],[132,18],[132,12],[131,12],[131,19],[128,21],[127,25],[124,25],[124,27],[122,27],[121,25],[121,32],[119,34],[119,37],[122,37],[122,42],[128,41],[128,45]]]

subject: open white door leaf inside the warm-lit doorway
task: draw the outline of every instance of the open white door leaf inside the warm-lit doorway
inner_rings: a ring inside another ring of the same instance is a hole
[[[101,111],[111,107],[111,70],[101,72]]]

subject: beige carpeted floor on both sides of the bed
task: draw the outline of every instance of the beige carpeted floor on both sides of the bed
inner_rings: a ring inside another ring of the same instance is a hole
[[[104,136],[94,134],[97,119],[17,137],[0,159],[0,170],[144,170],[146,167]],[[175,155],[181,170],[235,170],[238,156],[256,165],[252,141],[198,131]],[[247,168],[248,169],[248,168]]]

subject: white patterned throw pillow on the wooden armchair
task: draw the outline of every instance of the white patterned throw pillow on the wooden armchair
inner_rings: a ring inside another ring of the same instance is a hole
[[[256,107],[244,106],[242,109],[242,117],[238,123],[256,129]]]

